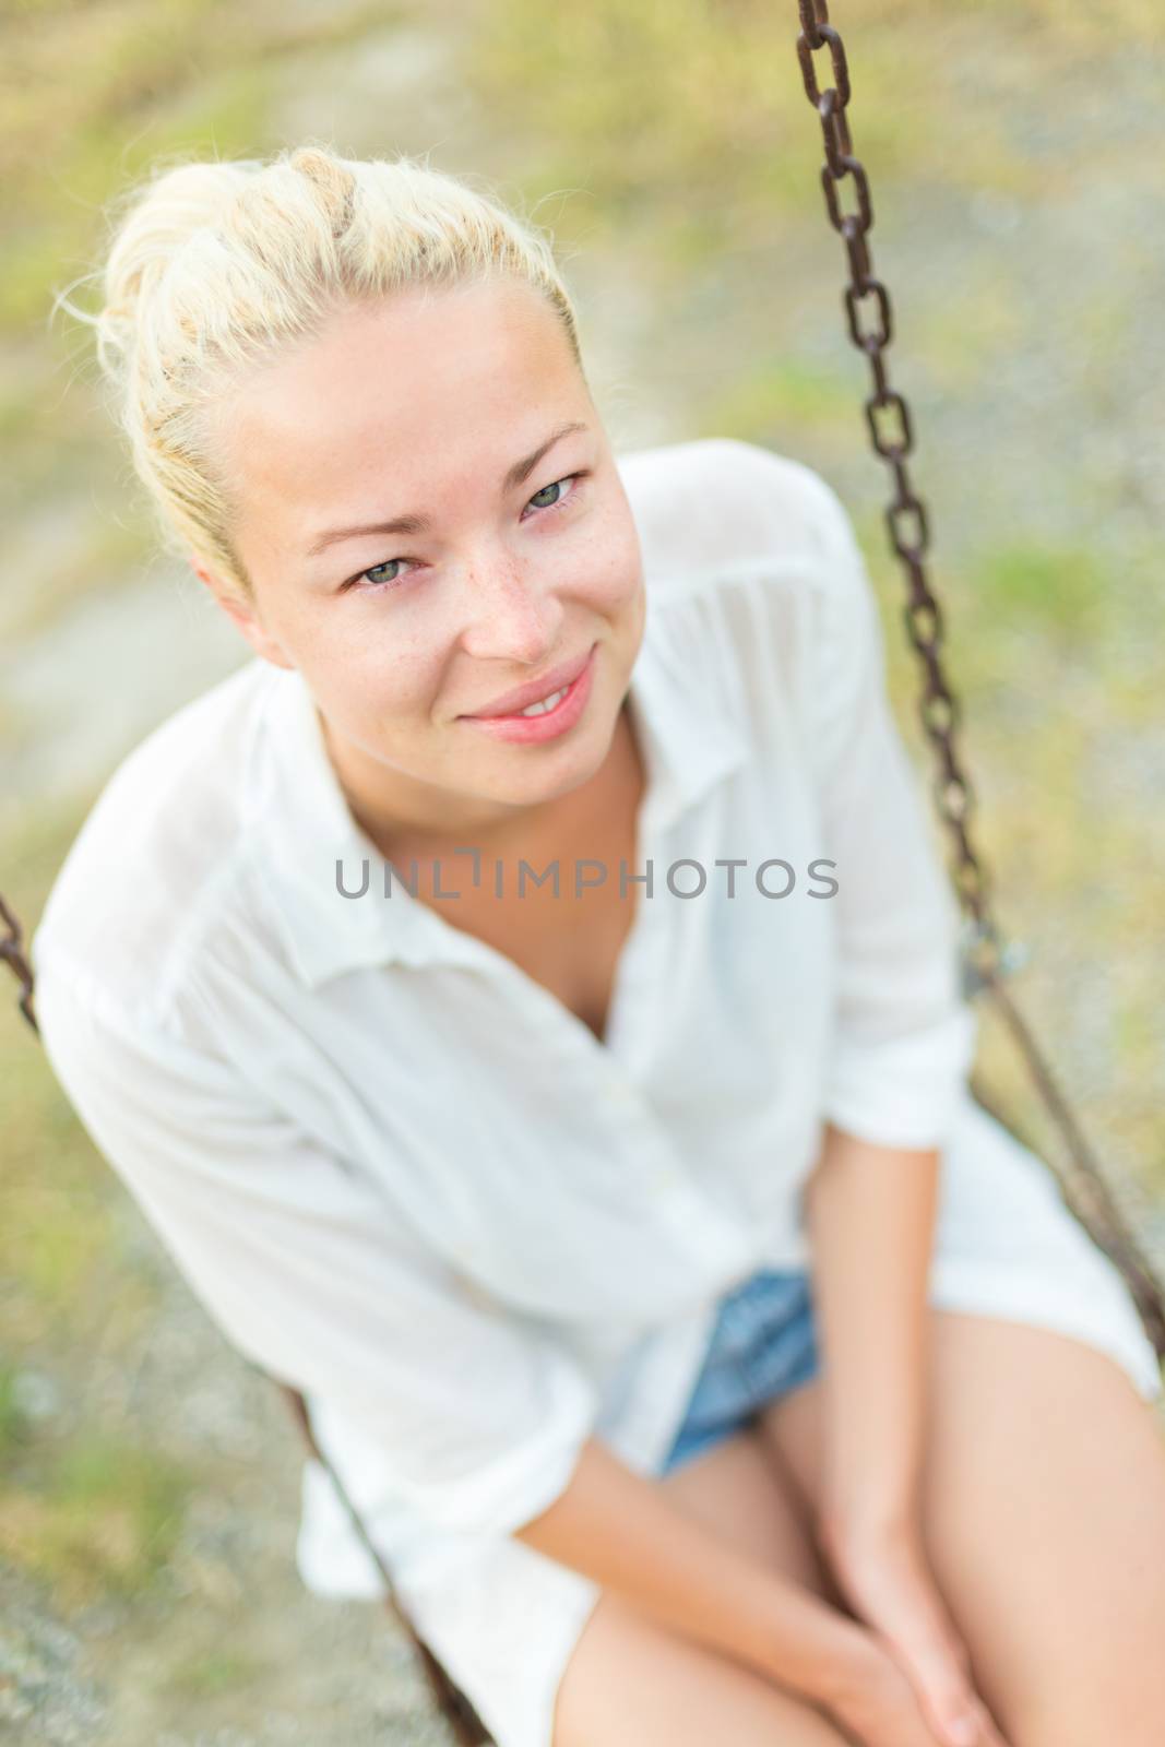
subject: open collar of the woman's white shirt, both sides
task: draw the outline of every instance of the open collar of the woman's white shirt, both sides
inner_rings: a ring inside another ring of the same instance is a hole
[[[672,608],[650,603],[629,685],[646,767],[648,844],[748,756],[734,687],[714,664],[718,645],[676,634]],[[482,964],[482,943],[412,898],[403,882],[393,880],[391,896],[383,896],[384,858],[348,807],[299,669],[269,669],[246,784],[255,870],[302,982],[314,989],[342,971],[393,961]],[[349,891],[360,891],[369,863],[363,896],[337,889],[337,861]]]

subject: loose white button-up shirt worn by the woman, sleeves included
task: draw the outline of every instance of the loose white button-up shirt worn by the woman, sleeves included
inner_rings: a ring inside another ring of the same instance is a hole
[[[957,907],[835,493],[728,438],[618,465],[648,589],[627,872],[650,861],[651,894],[606,1043],[456,901],[383,894],[311,695],[259,659],[114,772],[30,949],[94,1143],[225,1335],[306,1392],[466,1689],[493,1632],[477,1696],[531,1747],[596,1592],[510,1532],[592,1433],[662,1460],[716,1295],[807,1263],[826,1118],[945,1150],[936,1302],[1065,1328],[1160,1389],[1114,1270],[968,1095]],[[372,1592],[314,1464],[304,1511],[306,1579]],[[454,1626],[487,1565],[548,1599],[512,1646],[533,1668],[543,1646],[541,1710],[498,1639],[517,1602]]]

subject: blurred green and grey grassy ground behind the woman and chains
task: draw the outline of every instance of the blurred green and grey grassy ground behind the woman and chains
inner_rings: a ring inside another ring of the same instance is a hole
[[[1160,1254],[1165,23],[1156,0],[831,12],[973,830],[1032,954],[1011,992]],[[617,449],[744,437],[842,494],[929,793],[795,37],[796,0],[7,0],[0,891],[26,938],[119,758],[250,657],[155,556],[91,335],[51,314],[100,259],[105,203],[159,159],[428,152],[545,225]],[[445,1740],[386,1616],[302,1592],[285,1408],[94,1153],[16,992],[0,984],[0,1733]],[[987,1012],[980,1067],[1058,1157]]]

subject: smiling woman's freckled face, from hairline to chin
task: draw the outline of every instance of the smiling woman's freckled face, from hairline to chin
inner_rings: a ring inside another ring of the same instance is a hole
[[[302,673],[374,840],[507,832],[596,776],[643,636],[643,563],[536,292],[344,309],[243,384],[218,454],[253,601],[199,575],[265,660]],[[482,720],[580,667],[541,722]]]

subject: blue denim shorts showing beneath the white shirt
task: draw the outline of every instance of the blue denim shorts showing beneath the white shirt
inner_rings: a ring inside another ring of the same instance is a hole
[[[809,1275],[758,1268],[720,1300],[704,1364],[660,1473],[730,1438],[765,1403],[816,1375]]]

